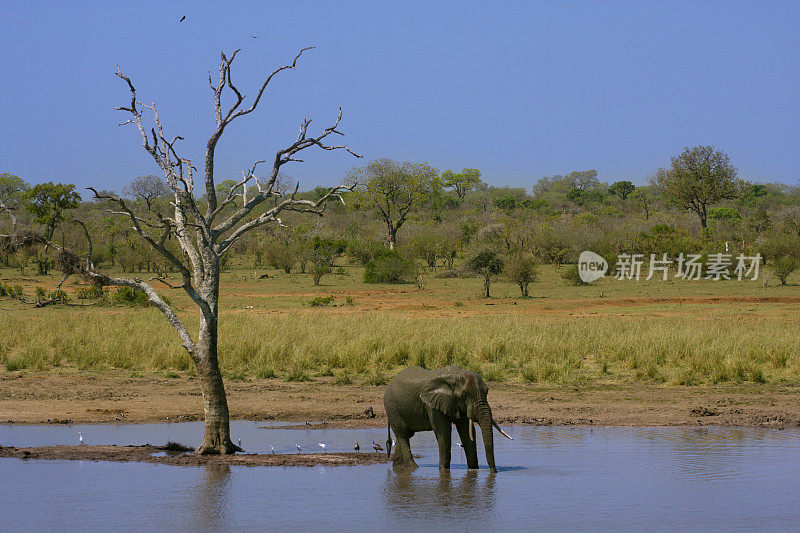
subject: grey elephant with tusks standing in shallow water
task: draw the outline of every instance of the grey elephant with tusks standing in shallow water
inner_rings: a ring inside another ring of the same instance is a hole
[[[394,466],[417,468],[409,439],[419,431],[433,431],[439,444],[439,468],[450,468],[451,424],[455,424],[467,467],[478,468],[478,452],[475,443],[475,426],[481,428],[486,462],[492,472],[497,472],[494,461],[494,435],[492,426],[505,437],[492,417],[492,409],[486,401],[489,388],[477,372],[462,370],[457,366],[446,366],[427,370],[418,366],[400,371],[386,387],[383,405],[389,421],[386,440],[387,455],[391,453],[394,431],[397,449]]]

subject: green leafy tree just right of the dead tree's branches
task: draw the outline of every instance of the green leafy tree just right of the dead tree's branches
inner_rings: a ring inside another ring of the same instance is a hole
[[[386,224],[389,249],[409,215],[424,204],[439,186],[439,173],[427,163],[397,163],[376,159],[348,176],[358,183],[357,198],[374,208]]]

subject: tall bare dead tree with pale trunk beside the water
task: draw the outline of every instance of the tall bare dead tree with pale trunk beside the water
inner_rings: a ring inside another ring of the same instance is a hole
[[[310,47],[311,48],[311,47]],[[150,302],[161,311],[180,337],[181,345],[189,353],[197,367],[200,379],[203,405],[205,409],[205,434],[198,448],[200,454],[234,453],[241,451],[230,438],[228,402],[223,386],[217,358],[217,340],[219,326],[219,284],[220,257],[234,245],[245,233],[265,224],[282,225],[280,214],[284,211],[313,213],[322,215],[326,202],[333,198],[342,200],[340,195],[352,186],[337,186],[316,201],[297,198],[298,187],[291,194],[280,192],[279,172],[289,162],[302,162],[297,154],[307,148],[317,147],[323,150],[346,150],[355,157],[361,157],[345,145],[331,145],[327,138],[332,135],[343,135],[337,128],[342,119],[342,110],[332,125],[316,136],[309,135],[311,120],[303,119],[297,138],[289,146],[278,150],[270,161],[266,179],[259,182],[255,177],[256,168],[265,161],[256,161],[242,174],[239,181],[224,197],[218,197],[215,187],[214,157],[217,143],[228,125],[234,120],[252,113],[261,101],[264,92],[278,73],[294,69],[300,56],[310,48],[303,48],[295,56],[291,64],[272,71],[261,84],[253,102],[243,107],[246,95],[234,84],[231,77],[231,65],[239,50],[230,57],[221,54],[219,75],[216,82],[209,73],[209,85],[213,93],[214,117],[216,127],[206,143],[205,168],[202,174],[202,185],[205,188],[205,205],[195,199],[195,172],[192,161],[180,155],[176,143],[180,136],[169,139],[164,131],[159,112],[155,104],[144,104],[137,99],[136,89],[131,79],[117,67],[116,75],[125,81],[130,91],[130,103],[115,109],[128,113],[129,118],[121,125],[132,124],[136,127],[144,149],[152,156],[164,175],[167,186],[173,197],[171,216],[160,213],[140,215],[134,213],[125,199],[108,193],[101,193],[90,188],[95,198],[110,200],[116,204],[113,213],[130,219],[133,229],[150,246],[169,261],[181,277],[177,286],[166,280],[153,278],[144,281],[136,278],[111,277],[99,272],[87,256],[85,260],[77,260],[75,254],[62,253],[78,261],[80,273],[102,285],[116,285],[140,289],[147,294]],[[233,97],[233,104],[223,109],[223,93]],[[152,116],[152,126],[145,126],[144,115]],[[257,192],[250,196],[248,184],[255,185]],[[259,212],[255,209],[271,199],[266,208]],[[235,200],[240,200],[236,201]],[[343,200],[342,200],[343,201]],[[227,208],[227,209],[226,209]],[[178,257],[165,245],[167,238],[175,237],[185,254]],[[88,238],[88,233],[87,233]],[[184,325],[183,321],[162,299],[152,286],[153,281],[160,281],[172,288],[186,292],[200,311],[200,327],[196,337]]]

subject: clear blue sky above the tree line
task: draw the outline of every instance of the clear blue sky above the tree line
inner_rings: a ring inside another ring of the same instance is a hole
[[[594,168],[642,183],[684,146],[713,144],[750,180],[800,179],[798,2],[21,2],[0,0],[0,172],[121,190],[157,168],[126,117],[117,64],[169,136],[202,161],[208,71],[259,111],[218,149],[218,181],[341,105],[346,142],[284,167],[333,185],[376,157],[481,169],[493,185]],[[186,20],[179,23],[181,16]],[[251,35],[258,36],[257,39]],[[197,165],[201,166],[201,165]]]

